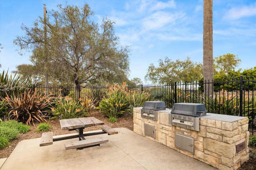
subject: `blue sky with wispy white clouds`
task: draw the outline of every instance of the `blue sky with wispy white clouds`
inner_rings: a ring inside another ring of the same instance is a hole
[[[130,76],[144,83],[148,66],[159,59],[203,62],[203,0],[0,0],[0,72],[29,64],[30,53],[20,56],[16,35],[24,35],[22,23],[32,27],[56,5],[88,3],[100,23],[115,21],[121,45],[130,46]],[[25,51],[24,51],[25,52]],[[213,0],[213,56],[231,53],[242,60],[239,68],[256,66],[256,0]]]

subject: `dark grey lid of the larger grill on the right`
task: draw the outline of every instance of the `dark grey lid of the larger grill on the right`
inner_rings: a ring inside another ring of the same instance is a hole
[[[171,113],[180,115],[203,116],[206,115],[204,104],[198,103],[175,103]]]

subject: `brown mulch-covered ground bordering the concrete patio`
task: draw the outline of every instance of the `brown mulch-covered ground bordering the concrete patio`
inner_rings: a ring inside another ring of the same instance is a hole
[[[100,113],[99,111],[94,111],[90,115],[91,117],[95,117],[101,121],[104,122],[105,125],[108,125],[109,127],[115,128],[115,127],[125,127],[127,129],[130,129],[133,131],[133,117],[129,113],[125,113],[124,116],[118,118],[118,122],[116,123],[110,123],[108,121],[108,117],[106,117],[104,114]],[[49,125],[51,125],[50,131],[53,132],[53,135],[63,135],[68,133],[74,133],[74,131],[68,131],[68,130],[61,130],[60,129],[60,123],[58,120],[49,120]],[[35,126],[37,127],[40,123],[35,123]],[[6,147],[5,149],[0,149],[0,158],[6,158],[10,156],[16,145],[25,139],[34,139],[34,138],[40,138],[42,135],[42,132],[37,132],[36,127],[33,125],[30,126],[30,131],[25,134],[20,134],[17,139],[11,141],[11,145]],[[99,126],[92,126],[87,127],[84,129],[84,131],[94,131],[94,130],[100,130]],[[256,170],[256,147],[249,146],[249,155],[250,159],[247,162],[244,162],[242,166],[238,170]]]

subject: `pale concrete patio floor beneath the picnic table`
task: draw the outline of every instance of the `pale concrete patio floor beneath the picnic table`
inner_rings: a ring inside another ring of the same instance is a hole
[[[0,159],[1,170],[216,170],[212,166],[138,135],[126,128],[115,128],[108,143],[82,150],[65,150],[56,141],[39,147],[40,138],[18,143],[8,158]],[[96,136],[86,137],[86,139]]]

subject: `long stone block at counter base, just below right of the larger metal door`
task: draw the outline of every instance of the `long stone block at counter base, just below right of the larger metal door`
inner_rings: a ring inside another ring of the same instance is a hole
[[[204,154],[204,152],[201,152],[199,150],[195,150],[194,158],[198,159],[206,164],[214,166],[215,168],[219,167],[219,159],[218,158],[208,155],[208,154]]]

